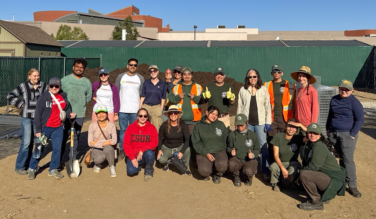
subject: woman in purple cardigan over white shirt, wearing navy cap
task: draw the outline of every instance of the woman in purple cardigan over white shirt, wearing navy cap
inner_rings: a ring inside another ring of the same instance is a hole
[[[108,116],[107,119],[110,122],[117,122],[119,120],[119,109],[120,109],[120,95],[117,86],[111,83],[109,80],[109,72],[107,69],[100,69],[99,72],[99,82],[92,83],[92,99],[93,101],[93,111],[91,114],[91,122],[97,122],[96,109],[99,105],[104,105],[107,107]]]

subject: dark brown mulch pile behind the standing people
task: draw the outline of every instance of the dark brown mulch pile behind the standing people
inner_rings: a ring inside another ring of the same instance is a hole
[[[145,80],[150,78],[148,68],[149,68],[149,65],[147,65],[146,63],[142,63],[137,68],[137,72],[141,74]],[[100,69],[102,68],[93,68],[93,69],[87,68],[85,70],[84,76],[88,78],[91,83],[99,81],[98,72]],[[117,68],[114,71],[111,71],[109,80],[112,83],[115,83],[117,76],[123,72],[126,72],[127,70],[128,70],[127,68],[120,68],[120,69]],[[165,72],[162,72],[162,69],[160,69],[158,77],[162,81],[166,80]],[[208,85],[211,82],[214,82],[215,79],[214,79],[214,74],[212,72],[194,71],[193,80],[195,80],[196,83],[198,83],[205,89],[206,85]],[[237,82],[235,79],[230,78],[230,77],[226,77],[224,79],[224,82],[229,83],[235,89],[234,94],[236,95],[236,98],[238,98],[239,90],[244,84],[241,82]],[[233,106],[230,106],[230,116],[236,115],[237,106],[238,106],[238,103],[237,103],[237,100],[235,100],[235,103],[233,104]],[[205,112],[206,109],[208,108],[208,104],[201,105],[201,108],[202,108],[202,112]],[[92,100],[90,100],[89,103],[86,104],[85,117],[90,118],[91,114],[92,114]]]

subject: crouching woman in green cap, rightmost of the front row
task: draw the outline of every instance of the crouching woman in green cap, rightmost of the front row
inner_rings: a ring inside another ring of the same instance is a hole
[[[336,158],[339,154],[323,136],[319,124],[311,123],[308,128],[302,124],[294,125],[305,130],[308,139],[303,156],[300,155],[303,168],[298,171],[298,183],[308,193],[308,201],[299,204],[299,208],[322,210],[323,204],[328,204],[336,195],[345,195],[346,169],[338,165]]]

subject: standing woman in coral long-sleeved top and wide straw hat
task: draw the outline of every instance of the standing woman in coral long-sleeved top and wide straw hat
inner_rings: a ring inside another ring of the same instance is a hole
[[[316,79],[307,66],[302,66],[299,71],[291,73],[291,77],[302,85],[296,92],[295,119],[307,127],[318,119],[318,95],[312,86]]]

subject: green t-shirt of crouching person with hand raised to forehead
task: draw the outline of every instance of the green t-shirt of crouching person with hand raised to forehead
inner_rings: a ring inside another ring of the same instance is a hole
[[[304,136],[302,135],[294,135],[288,140],[285,138],[285,133],[278,133],[270,143],[279,147],[279,159],[281,162],[298,162],[300,147],[305,144],[303,139]]]

